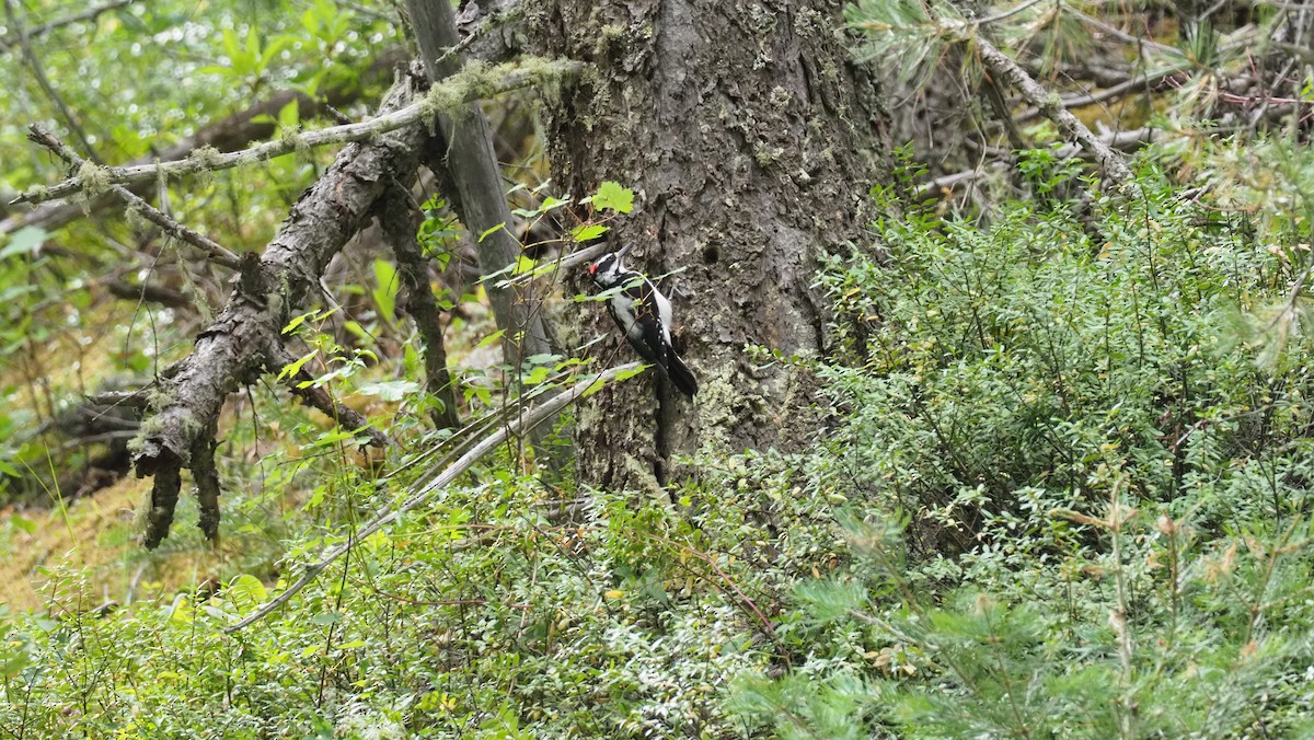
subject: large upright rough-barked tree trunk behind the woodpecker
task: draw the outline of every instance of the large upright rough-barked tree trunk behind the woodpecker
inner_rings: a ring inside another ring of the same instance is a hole
[[[700,384],[692,402],[654,394],[656,373],[599,394],[579,411],[583,480],[654,489],[679,474],[673,455],[702,444],[796,448],[816,431],[800,417],[812,401],[802,373],[745,346],[824,351],[815,258],[861,238],[883,170],[884,116],[834,35],[840,9],[557,0],[533,18],[548,54],[597,71],[549,114],[555,180],[574,196],[602,180],[639,193],[615,242],[652,276],[683,269],[664,285]],[[585,312],[585,338],[611,330],[603,313]]]

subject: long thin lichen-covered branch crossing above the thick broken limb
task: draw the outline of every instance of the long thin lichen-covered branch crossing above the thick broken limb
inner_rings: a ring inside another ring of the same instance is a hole
[[[367,141],[403,129],[417,121],[434,121],[438,113],[455,110],[480,99],[531,85],[560,83],[562,79],[578,74],[582,68],[583,64],[579,62],[547,59],[523,59],[518,63],[507,64],[470,64],[459,75],[453,75],[443,80],[442,84],[434,85],[426,96],[410,105],[382,113],[368,121],[288,134],[242,151],[221,154],[213,149],[201,149],[192,152],[191,156],[172,162],[135,164],[130,167],[104,167],[95,172],[79,172],[55,185],[29,188],[12,202],[42,202],[76,193],[88,185],[100,184],[104,187],[104,184],[154,180],[162,175],[173,177],[197,172],[214,172],[264,162],[297,150]]]

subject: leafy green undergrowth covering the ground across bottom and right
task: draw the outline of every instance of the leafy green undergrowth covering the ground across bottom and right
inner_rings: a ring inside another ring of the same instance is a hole
[[[313,492],[261,530],[276,563],[112,611],[50,569],[0,616],[0,732],[1309,732],[1310,221],[1135,189],[978,220],[874,193],[819,277],[834,356],[790,360],[832,427],[704,451],[675,505],[490,460],[225,634],[389,502],[348,464],[231,481],[252,528]]]

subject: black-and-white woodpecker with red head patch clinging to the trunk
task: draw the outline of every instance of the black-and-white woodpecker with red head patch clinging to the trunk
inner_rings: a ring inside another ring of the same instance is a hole
[[[624,251],[603,255],[589,266],[589,275],[603,290],[620,288],[607,301],[611,318],[639,356],[657,365],[681,393],[692,398],[698,393],[698,380],[670,344],[670,301],[646,275],[625,269],[620,263]]]

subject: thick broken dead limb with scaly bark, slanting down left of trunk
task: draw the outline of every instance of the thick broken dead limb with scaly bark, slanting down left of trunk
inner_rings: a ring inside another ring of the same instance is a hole
[[[415,70],[393,87],[382,110],[403,108],[426,87]],[[209,444],[225,400],[263,372],[281,367],[275,348],[283,346],[283,327],[292,312],[318,294],[328,260],[369,218],[390,177],[414,171],[424,138],[426,131],[413,126],[347,146],[302,193],[264,255],[243,255],[227,305],[197,336],[177,372],[160,381],[155,413],[134,440],[137,474],[155,477],[143,544],[154,547],[167,535],[180,471],[196,472],[194,465],[208,464],[206,450],[213,455]],[[202,518],[208,536],[209,523]]]

